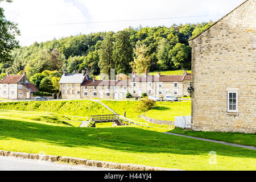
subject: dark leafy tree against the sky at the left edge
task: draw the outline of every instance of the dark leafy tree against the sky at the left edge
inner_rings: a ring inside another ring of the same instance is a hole
[[[12,1],[6,0],[6,2]],[[20,32],[17,24],[7,20],[3,12],[4,10],[0,8],[0,62],[8,62],[13,60],[10,52],[19,47],[15,36],[20,35]]]

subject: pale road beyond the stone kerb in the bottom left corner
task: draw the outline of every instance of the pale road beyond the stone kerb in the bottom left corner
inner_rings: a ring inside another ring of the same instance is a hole
[[[0,171],[110,171],[113,169],[90,166],[72,166],[43,160],[0,156]]]

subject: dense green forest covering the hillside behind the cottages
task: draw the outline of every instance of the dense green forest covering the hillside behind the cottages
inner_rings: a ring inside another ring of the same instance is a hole
[[[57,89],[64,67],[68,73],[88,68],[92,75],[109,75],[110,69],[115,69],[116,74],[126,75],[132,69],[138,73],[145,69],[191,69],[188,40],[211,24],[130,27],[118,32],[98,32],[35,42],[31,46],[14,49],[11,52],[13,60],[0,63],[0,78],[5,77],[7,72],[21,74],[25,69],[28,78],[36,81],[36,85],[40,86],[40,81],[44,79],[49,84],[52,82],[51,86]]]

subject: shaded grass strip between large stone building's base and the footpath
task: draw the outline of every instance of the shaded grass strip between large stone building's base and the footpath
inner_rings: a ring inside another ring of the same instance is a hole
[[[243,144],[246,146],[256,147],[256,134],[191,131],[191,130],[183,130],[179,128],[169,132],[181,134],[181,135],[188,135],[192,137],[200,137],[200,138],[218,140],[222,142]]]

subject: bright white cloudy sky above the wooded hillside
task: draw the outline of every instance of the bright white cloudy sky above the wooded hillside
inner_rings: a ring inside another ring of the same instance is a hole
[[[30,46],[34,42],[91,32],[119,31],[129,26],[170,27],[174,23],[216,21],[243,1],[245,0],[13,0],[12,3],[1,2],[0,7],[5,10],[7,20],[18,23],[21,35],[17,39],[20,46]],[[156,18],[171,19],[141,20]],[[133,21],[106,22],[119,20]]]

